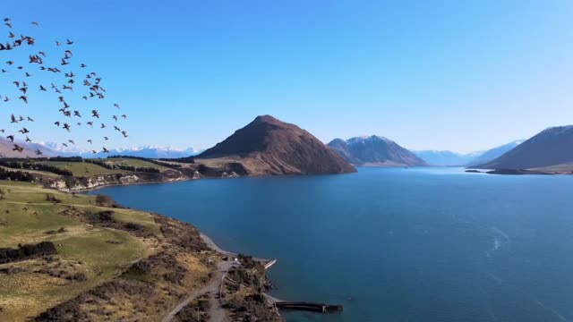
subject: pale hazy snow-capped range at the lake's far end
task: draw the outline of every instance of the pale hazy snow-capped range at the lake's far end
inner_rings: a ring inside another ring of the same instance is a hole
[[[524,140],[515,140],[499,147],[485,151],[471,153],[457,153],[448,150],[417,150],[412,151],[416,156],[421,157],[429,165],[438,166],[471,166],[481,165],[500,157],[510,149],[517,147]]]

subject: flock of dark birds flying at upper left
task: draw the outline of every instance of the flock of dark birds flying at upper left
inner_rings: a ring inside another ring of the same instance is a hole
[[[31,22],[31,24],[34,26],[39,26],[38,22]],[[10,20],[10,18],[4,18],[4,27],[8,30],[8,40],[5,41],[4,43],[0,41],[0,56],[2,55],[2,52],[20,50],[22,47],[26,46],[33,47],[35,45],[36,40],[34,38],[24,35],[16,36],[16,34],[14,34],[12,21]],[[19,95],[19,97],[17,97],[18,101],[20,101],[24,105],[27,105],[29,103],[30,91],[33,90],[30,86],[31,84],[29,85],[29,83],[31,83],[30,80],[33,80],[33,74],[36,73],[36,71],[33,71],[33,69],[38,68],[39,72],[48,73],[50,75],[49,79],[54,81],[54,82],[50,81],[50,84],[47,86],[44,86],[46,84],[38,84],[35,86],[38,92],[46,92],[47,95],[48,91],[52,91],[55,93],[53,94],[53,96],[57,97],[57,102],[61,106],[58,109],[58,112],[59,114],[61,114],[61,117],[64,117],[64,120],[56,121],[54,125],[56,125],[58,128],[64,131],[67,131],[68,133],[72,132],[72,127],[81,126],[82,124],[83,126],[89,126],[90,128],[96,127],[99,129],[106,129],[107,125],[103,123],[104,121],[102,120],[102,118],[100,118],[100,114],[97,109],[90,108],[91,110],[90,115],[89,116],[84,115],[85,116],[84,118],[82,117],[81,111],[78,109],[74,109],[70,104],[68,104],[68,102],[64,97],[64,95],[70,97],[76,95],[76,93],[78,92],[83,92],[83,95],[79,94],[82,95],[81,99],[83,99],[86,104],[90,104],[89,102],[90,100],[104,99],[106,95],[105,94],[106,89],[104,89],[101,86],[101,78],[98,77],[98,74],[96,72],[87,72],[85,74],[85,77],[80,77],[79,75],[76,75],[73,71],[69,72],[62,71],[62,70],[69,70],[70,66],[73,65],[72,63],[73,51],[71,49],[72,45],[73,41],[70,39],[66,39],[65,42],[55,41],[56,48],[61,49],[62,52],[61,56],[57,57],[58,58],[57,62],[59,63],[59,65],[56,66],[47,66],[47,64],[45,64],[45,61],[47,61],[47,53],[45,51],[38,51],[38,52],[32,51],[31,54],[28,55],[27,57],[29,59],[28,62],[29,65],[27,66],[16,64],[12,60],[6,61],[4,63],[4,66],[0,67],[1,69],[0,80],[2,80],[2,78],[5,77],[4,75],[10,75],[12,76],[10,80],[13,81],[11,83],[9,82],[8,84],[0,83],[0,85],[2,85],[2,87],[15,86]],[[77,64],[77,66],[79,66],[81,71],[83,71],[88,67],[86,64]],[[56,80],[57,76],[61,76],[62,73],[64,73],[64,80],[62,80],[64,83],[58,83],[58,81]],[[21,77],[21,79],[14,80],[14,78],[16,77]],[[77,85],[80,85],[81,88],[78,89]],[[76,90],[75,92],[74,92],[74,87]],[[11,99],[13,98],[0,93],[0,104],[9,104],[8,102],[10,102]],[[42,103],[45,103],[45,101],[46,100],[42,100]],[[120,109],[120,106],[118,104],[114,104],[113,107],[115,107],[115,109],[117,110]],[[82,120],[85,120],[86,118],[89,118],[89,121],[82,122]],[[119,115],[118,113],[116,115],[113,115],[110,121],[114,120],[114,123],[117,124],[119,121],[125,119],[127,119],[126,114]],[[32,119],[30,116],[24,117],[21,115],[16,116],[14,114],[10,116],[11,124],[18,123],[19,125],[21,125],[21,123],[27,123],[27,122],[34,122],[34,119]],[[124,138],[127,138],[128,135],[126,131],[120,129],[117,125],[110,125],[110,126],[113,126],[114,131],[117,131]],[[4,134],[4,132],[5,132],[4,129],[0,129],[0,133]],[[21,134],[11,133],[5,136],[5,138],[12,141],[14,151],[18,151],[21,153],[24,150],[24,147],[22,147],[18,143],[14,143],[14,139],[16,138],[16,136],[21,136],[21,139],[24,140],[25,142],[31,142],[32,140],[30,140],[28,134],[30,133],[30,131],[25,126],[22,125],[21,130],[18,132]],[[109,138],[107,136],[103,136],[103,140],[106,141],[109,140]],[[93,144],[93,140],[89,139],[87,140],[87,143]],[[74,144],[75,141],[73,139],[69,139],[66,142],[62,143],[61,145],[65,148],[69,148],[70,145]],[[92,154],[97,154],[98,152],[108,153],[109,150],[105,147],[103,147],[101,151],[98,151],[96,149],[91,150]],[[39,156],[41,154],[42,151],[37,149],[36,155]]]

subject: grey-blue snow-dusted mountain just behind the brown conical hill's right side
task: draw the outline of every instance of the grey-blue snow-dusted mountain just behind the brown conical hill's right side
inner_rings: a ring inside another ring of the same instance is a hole
[[[402,148],[398,143],[377,135],[335,139],[329,147],[353,165],[416,166],[427,165],[423,159]]]

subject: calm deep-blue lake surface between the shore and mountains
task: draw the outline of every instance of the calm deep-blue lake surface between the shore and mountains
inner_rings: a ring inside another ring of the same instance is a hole
[[[361,168],[91,193],[278,258],[280,299],[345,306],[289,322],[573,320],[573,176]]]

